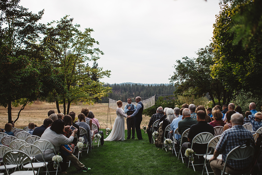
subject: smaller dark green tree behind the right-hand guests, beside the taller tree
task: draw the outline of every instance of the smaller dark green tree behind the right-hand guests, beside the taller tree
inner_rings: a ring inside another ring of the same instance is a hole
[[[219,105],[229,102],[232,92],[225,90],[219,79],[213,79],[210,76],[210,66],[214,64],[215,54],[213,53],[213,44],[201,48],[197,52],[197,58],[183,57],[177,60],[174,66],[174,75],[169,79],[171,83],[178,88],[174,93],[183,93],[190,90],[195,97],[205,96],[207,93],[215,104],[215,98]]]

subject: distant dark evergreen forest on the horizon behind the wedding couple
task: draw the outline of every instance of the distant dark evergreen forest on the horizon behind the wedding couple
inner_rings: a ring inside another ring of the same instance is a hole
[[[154,84],[154,85],[145,85],[141,83],[121,83],[121,84],[105,84],[105,87],[109,86],[112,88],[112,93],[109,93],[109,98],[114,100],[127,101],[130,97],[132,102],[137,96],[140,96],[142,100],[148,99],[149,97],[157,95],[172,95],[176,90],[175,86],[166,85],[166,84]],[[99,103],[107,103],[108,99],[102,99],[98,101]]]

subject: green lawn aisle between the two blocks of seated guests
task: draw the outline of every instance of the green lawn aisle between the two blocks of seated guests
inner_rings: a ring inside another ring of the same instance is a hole
[[[104,131],[105,133],[105,131]],[[125,130],[125,138],[127,130]],[[137,136],[135,136],[137,138]],[[90,167],[91,171],[76,173],[70,165],[68,174],[165,174],[190,175],[201,174],[203,166],[197,166],[198,172],[187,168],[186,164],[177,160],[171,151],[166,152],[148,141],[148,135],[142,131],[143,140],[129,139],[125,141],[105,141],[104,146],[95,146],[86,154],[83,151],[80,162]],[[201,173],[200,173],[201,171]]]

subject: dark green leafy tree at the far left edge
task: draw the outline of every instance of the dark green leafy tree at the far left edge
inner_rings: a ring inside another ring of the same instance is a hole
[[[19,6],[19,1],[0,3],[0,104],[8,107],[9,121],[12,105],[22,104],[22,110],[46,95],[54,82],[50,81],[54,77],[52,65],[41,56],[43,49],[36,44],[45,31],[45,25],[38,24],[43,10],[33,14]]]

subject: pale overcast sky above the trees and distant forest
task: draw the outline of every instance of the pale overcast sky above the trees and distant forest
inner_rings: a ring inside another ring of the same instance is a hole
[[[21,0],[41,23],[65,15],[92,28],[104,52],[105,83],[169,83],[176,60],[209,45],[220,0]],[[92,65],[93,63],[89,63]]]

